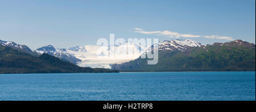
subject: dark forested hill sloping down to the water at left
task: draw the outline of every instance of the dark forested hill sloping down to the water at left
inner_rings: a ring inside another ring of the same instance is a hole
[[[70,73],[70,72],[118,72],[109,69],[79,67],[49,54],[34,57],[23,51],[0,45],[0,74],[11,73]]]

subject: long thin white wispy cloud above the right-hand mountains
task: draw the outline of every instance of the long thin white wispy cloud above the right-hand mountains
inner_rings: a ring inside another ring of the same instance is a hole
[[[224,40],[234,40],[233,37],[226,37],[226,36],[217,36],[217,35],[211,35],[211,36],[201,36],[201,35],[192,35],[192,34],[180,34],[177,32],[172,32],[172,31],[144,31],[141,28],[134,28],[137,33],[143,33],[143,34],[148,34],[148,35],[158,35],[158,36],[167,36],[171,38],[180,38],[180,37],[185,37],[185,38],[196,38],[196,37],[204,37],[204,38],[211,38],[211,39],[224,39]]]

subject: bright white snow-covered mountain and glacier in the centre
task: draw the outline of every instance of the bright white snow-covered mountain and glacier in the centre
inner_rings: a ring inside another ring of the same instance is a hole
[[[130,52],[127,51],[129,48]],[[110,64],[123,63],[138,58],[144,51],[141,45],[134,43],[110,46],[71,46],[66,49],[55,49],[52,45],[43,46],[35,51],[76,63],[81,67],[110,68]],[[120,53],[122,52],[122,53]]]

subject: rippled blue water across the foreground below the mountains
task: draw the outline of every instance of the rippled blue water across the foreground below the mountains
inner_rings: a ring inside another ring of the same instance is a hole
[[[0,100],[255,101],[255,72],[0,74]]]

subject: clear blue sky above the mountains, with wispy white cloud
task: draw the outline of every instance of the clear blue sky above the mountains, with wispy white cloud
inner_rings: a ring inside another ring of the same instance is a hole
[[[255,1],[0,1],[0,40],[32,50],[96,45],[109,33],[202,44],[255,43]]]

